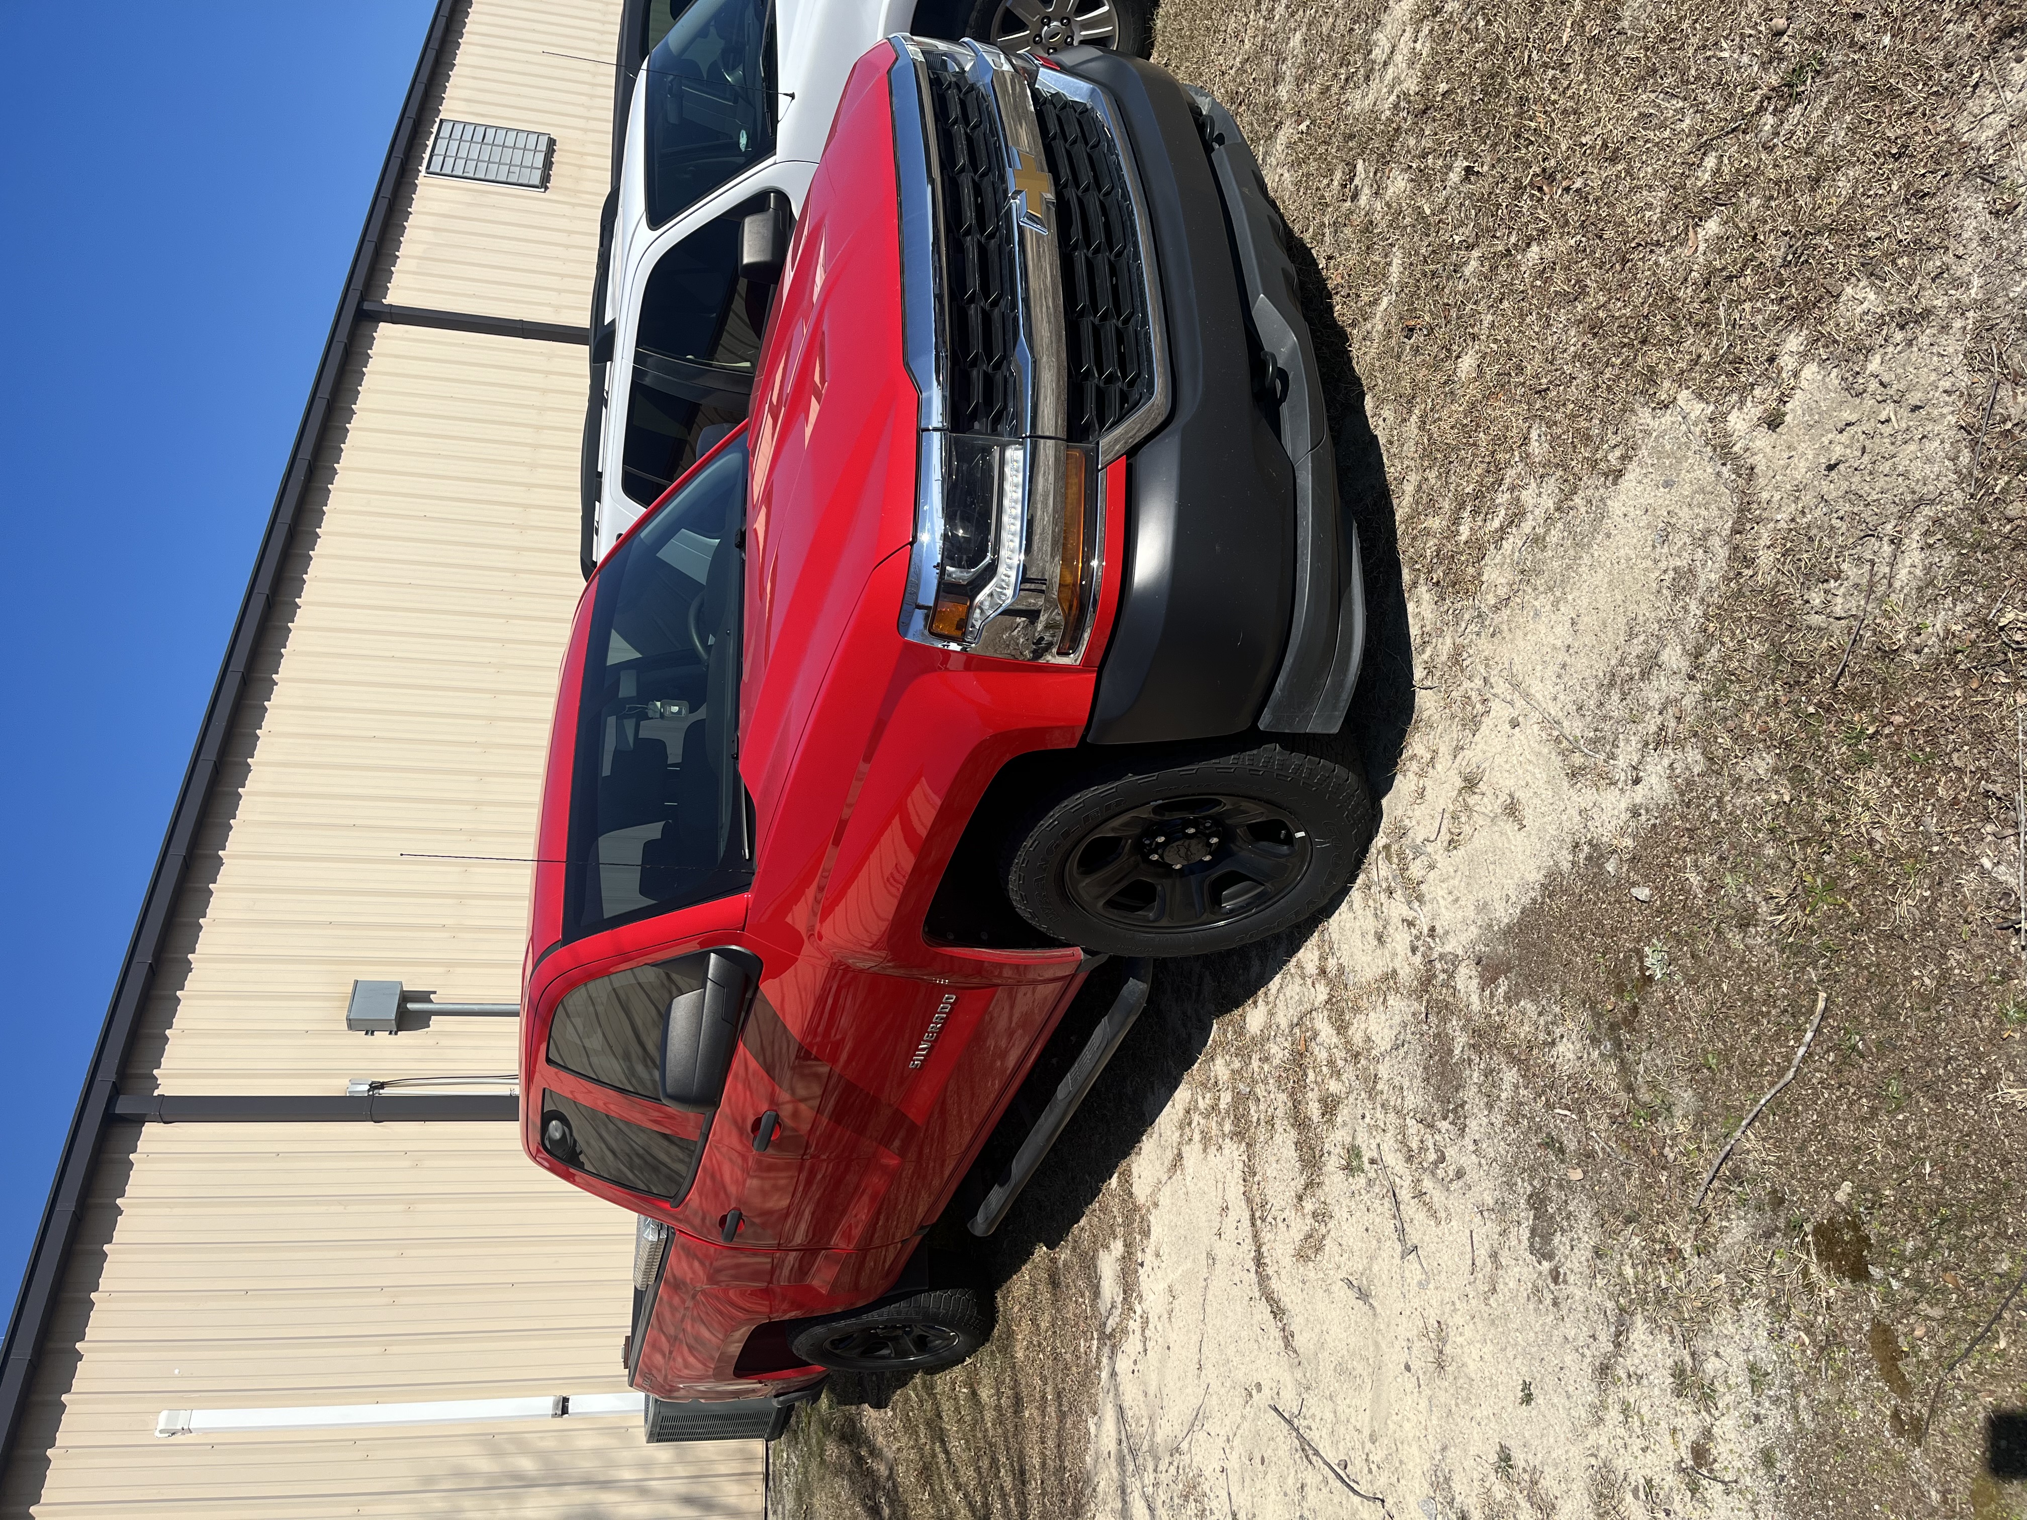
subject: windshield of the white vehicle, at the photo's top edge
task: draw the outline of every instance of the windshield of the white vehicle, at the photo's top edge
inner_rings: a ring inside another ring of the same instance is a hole
[[[774,152],[774,8],[695,0],[647,61],[647,219],[661,227]]]

